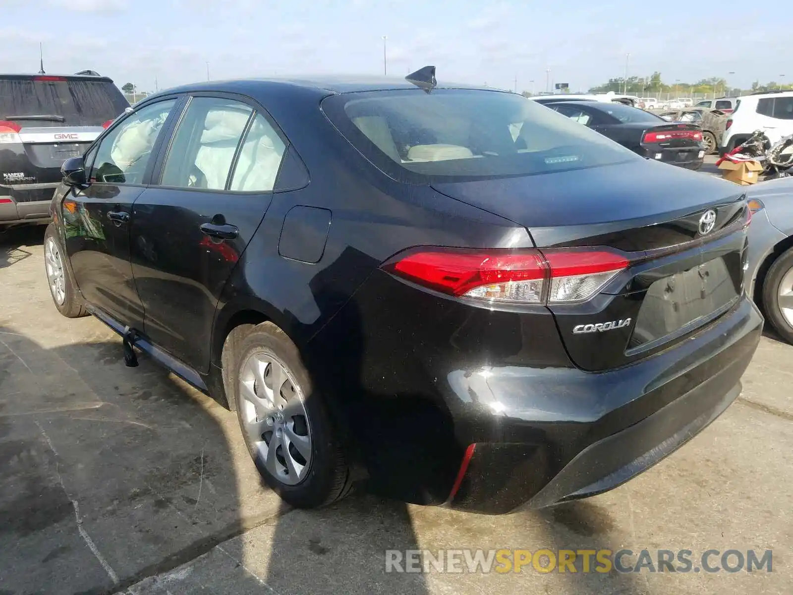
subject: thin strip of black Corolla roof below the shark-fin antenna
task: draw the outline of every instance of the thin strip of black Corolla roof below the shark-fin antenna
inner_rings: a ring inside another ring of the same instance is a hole
[[[321,77],[294,77],[294,78],[266,78],[266,79],[231,79],[221,81],[207,81],[192,83],[168,89],[167,93],[189,93],[200,90],[213,90],[239,93],[244,90],[261,91],[267,87],[292,86],[306,90],[320,90],[331,94],[357,93],[362,91],[404,90],[417,89],[418,87],[405,79],[383,76],[321,76]],[[436,89],[477,89],[488,91],[501,91],[486,86],[466,85],[464,83],[439,82]]]

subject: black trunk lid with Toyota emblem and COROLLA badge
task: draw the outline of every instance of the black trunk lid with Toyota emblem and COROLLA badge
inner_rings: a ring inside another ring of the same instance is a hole
[[[729,182],[634,161],[434,187],[523,225],[541,250],[605,246],[626,255],[630,266],[594,298],[548,306],[584,370],[621,367],[684,340],[742,294],[748,211]]]

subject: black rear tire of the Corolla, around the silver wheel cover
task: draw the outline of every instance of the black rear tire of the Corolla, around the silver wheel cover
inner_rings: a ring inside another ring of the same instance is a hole
[[[244,338],[237,337],[228,342],[227,347],[232,350],[232,354],[224,360],[232,363],[232,369],[224,374],[226,393],[234,401],[243,440],[267,486],[287,504],[300,509],[329,505],[347,496],[353,482],[339,434],[335,431],[327,405],[313,390],[308,370],[295,344],[281,328],[271,322],[264,322],[251,328]],[[302,402],[307,417],[306,427],[310,428],[312,456],[307,475],[297,485],[282,482],[266,469],[261,451],[255,447],[243,422],[246,401],[243,401],[240,393],[240,373],[248,359],[257,353],[274,355],[279,359],[290,376],[289,382],[297,382],[300,392],[305,395]]]

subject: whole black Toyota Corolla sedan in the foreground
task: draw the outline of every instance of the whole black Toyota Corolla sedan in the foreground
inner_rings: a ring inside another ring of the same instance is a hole
[[[235,410],[289,504],[508,512],[619,486],[737,397],[742,192],[431,67],[200,83],[64,163],[46,271],[129,366]]]

